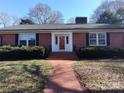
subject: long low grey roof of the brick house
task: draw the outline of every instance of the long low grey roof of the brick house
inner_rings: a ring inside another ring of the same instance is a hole
[[[0,30],[70,30],[70,29],[124,29],[121,25],[111,24],[41,24],[41,25],[17,25],[2,28]]]

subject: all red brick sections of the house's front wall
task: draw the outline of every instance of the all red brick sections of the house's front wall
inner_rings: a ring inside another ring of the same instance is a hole
[[[15,45],[15,34],[3,34],[0,35],[3,45]],[[50,46],[51,45],[51,33],[39,34],[39,45]],[[86,46],[86,33],[73,33],[73,45],[76,47]],[[110,47],[122,48],[124,47],[124,33],[122,32],[110,32]]]

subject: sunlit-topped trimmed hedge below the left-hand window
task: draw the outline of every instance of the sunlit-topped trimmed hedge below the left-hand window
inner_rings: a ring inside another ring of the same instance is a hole
[[[44,59],[48,55],[49,49],[43,46],[0,47],[0,60]]]

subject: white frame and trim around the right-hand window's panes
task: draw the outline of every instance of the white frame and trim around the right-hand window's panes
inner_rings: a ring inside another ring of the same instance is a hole
[[[89,46],[107,46],[107,33],[106,32],[90,32],[89,34],[96,34],[96,45],[91,45],[90,44],[90,37],[88,36],[88,38],[89,38]],[[104,45],[100,45],[99,44],[99,38],[98,38],[98,34],[99,33],[104,33],[105,34],[105,44]]]

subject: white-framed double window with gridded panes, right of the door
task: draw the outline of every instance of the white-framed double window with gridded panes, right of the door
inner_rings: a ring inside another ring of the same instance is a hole
[[[106,33],[89,33],[90,46],[106,46]]]

